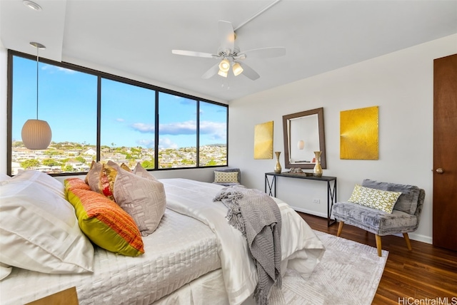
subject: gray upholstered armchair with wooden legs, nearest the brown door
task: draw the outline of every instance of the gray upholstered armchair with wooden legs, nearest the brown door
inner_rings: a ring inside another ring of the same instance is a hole
[[[332,211],[333,217],[339,222],[337,236],[341,235],[344,224],[350,224],[371,232],[375,234],[378,256],[381,257],[381,236],[401,233],[405,239],[406,247],[411,251],[408,232],[416,231],[418,228],[425,191],[413,185],[400,185],[369,179],[363,180],[361,186],[381,191],[401,192],[401,195],[396,202],[393,202],[391,213],[378,210],[378,207],[368,207],[354,202],[336,202]]]

